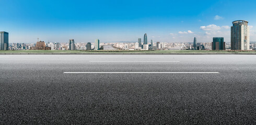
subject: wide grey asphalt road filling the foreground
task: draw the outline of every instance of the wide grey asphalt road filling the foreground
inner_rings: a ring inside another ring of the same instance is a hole
[[[0,124],[256,124],[255,74],[255,55],[0,55]]]

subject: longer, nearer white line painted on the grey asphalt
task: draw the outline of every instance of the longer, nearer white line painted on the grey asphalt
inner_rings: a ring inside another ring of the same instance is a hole
[[[165,73],[165,74],[171,74],[171,73],[201,73],[201,74],[215,74],[219,72],[64,72],[65,74],[96,74],[96,73],[106,73],[106,74],[118,74],[118,73],[144,73],[144,74],[150,74],[150,73]]]

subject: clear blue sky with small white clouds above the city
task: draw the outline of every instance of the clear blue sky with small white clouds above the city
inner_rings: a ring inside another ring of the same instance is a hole
[[[42,41],[135,42],[144,33],[155,42],[212,42],[230,26],[248,20],[256,41],[256,1],[30,1],[0,0],[0,30],[9,43]],[[148,41],[149,41],[148,40]]]

